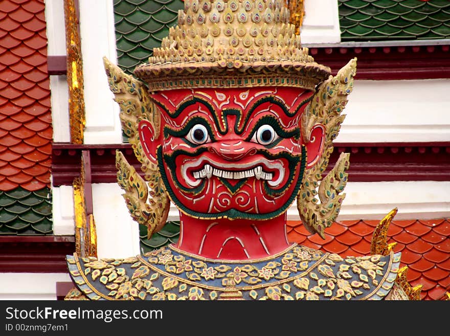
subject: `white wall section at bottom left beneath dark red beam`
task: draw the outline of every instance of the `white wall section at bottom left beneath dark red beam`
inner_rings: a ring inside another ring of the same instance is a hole
[[[0,273],[0,300],[56,300],[56,282],[66,273]]]

